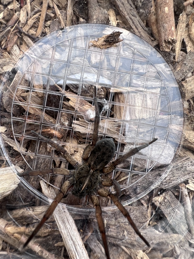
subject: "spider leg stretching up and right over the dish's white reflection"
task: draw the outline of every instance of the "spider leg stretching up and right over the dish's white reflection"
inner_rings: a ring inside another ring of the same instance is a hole
[[[126,154],[118,157],[115,161],[113,161],[110,164],[110,166],[103,168],[103,173],[108,174],[108,173],[112,172],[116,168],[116,166],[118,166],[118,164],[121,164],[122,162],[124,162],[128,157],[135,155],[141,149],[148,147],[156,140],[157,140],[157,138],[155,138],[152,141],[145,143],[139,147],[135,147],[135,148],[131,149],[129,152],[127,152]]]

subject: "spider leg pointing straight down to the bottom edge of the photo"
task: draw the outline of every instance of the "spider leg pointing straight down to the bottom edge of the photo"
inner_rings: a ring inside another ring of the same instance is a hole
[[[108,243],[107,243],[107,238],[106,238],[105,224],[104,224],[104,221],[102,218],[102,210],[100,207],[99,198],[96,195],[91,195],[90,198],[91,198],[93,206],[96,210],[96,219],[97,219],[98,227],[99,227],[99,230],[101,233],[102,242],[103,242],[104,249],[105,249],[105,254],[106,254],[107,259],[110,259]]]

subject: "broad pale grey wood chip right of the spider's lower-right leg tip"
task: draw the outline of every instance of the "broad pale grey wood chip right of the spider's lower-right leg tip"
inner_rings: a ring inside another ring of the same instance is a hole
[[[162,195],[154,197],[153,203],[161,209],[169,223],[182,237],[188,235],[184,208],[171,191],[165,191]]]

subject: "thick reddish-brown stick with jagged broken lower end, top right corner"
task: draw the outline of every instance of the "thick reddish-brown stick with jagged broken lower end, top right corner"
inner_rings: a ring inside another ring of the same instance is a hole
[[[156,3],[160,49],[170,51],[176,41],[173,0],[158,0]]]

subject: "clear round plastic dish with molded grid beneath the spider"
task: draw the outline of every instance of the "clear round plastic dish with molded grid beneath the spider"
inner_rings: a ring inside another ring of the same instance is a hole
[[[116,47],[90,46],[91,40],[115,30],[122,32],[123,37]],[[16,71],[19,80],[12,79]],[[94,85],[98,88],[101,112],[99,139],[113,138],[115,159],[158,138],[104,177],[115,178],[120,183],[121,202],[127,205],[153,190],[169,173],[167,165],[182,134],[180,91],[168,64],[154,48],[122,28],[99,24],[72,26],[36,42],[7,75],[1,90],[6,108],[6,97],[10,96],[10,88],[14,89],[10,107],[12,134],[26,168],[40,170],[71,166],[31,130],[53,138],[81,162],[94,128]],[[3,153],[12,165],[4,144],[1,136]],[[153,179],[153,170],[163,166]],[[50,174],[39,177],[55,190],[67,179]],[[28,181],[21,178],[32,199],[39,197],[44,203],[46,197]],[[110,187],[110,191],[114,192],[114,188]],[[79,206],[77,199],[72,204],[71,193],[68,197],[64,202],[75,214],[84,218],[93,211],[91,207]],[[103,210],[114,207],[107,200],[101,202],[106,206]]]

